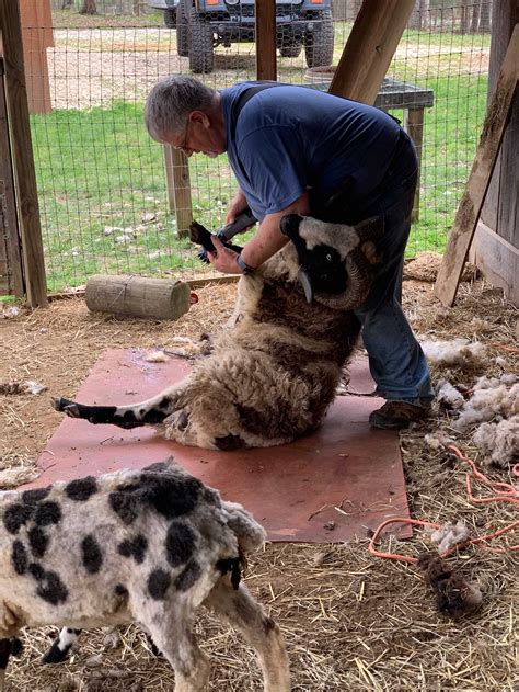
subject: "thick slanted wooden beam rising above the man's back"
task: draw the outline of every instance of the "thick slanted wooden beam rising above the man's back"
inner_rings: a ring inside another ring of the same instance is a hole
[[[372,105],[411,16],[414,0],[365,0],[330,93]]]

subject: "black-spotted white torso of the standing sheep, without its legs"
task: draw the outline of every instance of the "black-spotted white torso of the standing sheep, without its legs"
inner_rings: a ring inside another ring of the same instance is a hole
[[[147,601],[185,594],[198,605],[239,558],[232,513],[163,465],[0,494],[0,638],[128,622]]]

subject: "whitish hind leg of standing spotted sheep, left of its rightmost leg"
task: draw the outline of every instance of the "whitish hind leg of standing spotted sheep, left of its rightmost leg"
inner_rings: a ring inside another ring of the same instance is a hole
[[[163,612],[166,612],[166,606]],[[198,648],[191,627],[184,625],[182,616],[172,609],[166,620],[154,617],[142,624],[175,671],[174,692],[205,690],[209,679],[209,662]]]

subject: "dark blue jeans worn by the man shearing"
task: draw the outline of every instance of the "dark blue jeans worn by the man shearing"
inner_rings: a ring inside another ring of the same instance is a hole
[[[390,168],[369,198],[353,206],[359,218],[383,216],[384,235],[377,250],[381,258],[366,302],[355,310],[362,325],[377,393],[385,399],[429,404],[434,398],[429,367],[402,310],[404,251],[418,177],[416,152],[402,131]]]

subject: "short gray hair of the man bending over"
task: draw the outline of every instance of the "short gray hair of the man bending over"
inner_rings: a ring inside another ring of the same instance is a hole
[[[163,141],[182,132],[192,111],[207,111],[215,105],[217,92],[194,77],[171,75],[152,88],[145,105],[145,124],[150,137]]]

